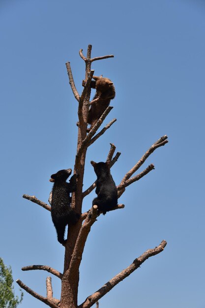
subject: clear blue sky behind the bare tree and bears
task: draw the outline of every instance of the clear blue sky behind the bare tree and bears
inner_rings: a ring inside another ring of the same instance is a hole
[[[92,227],[79,304],[165,239],[164,252],[99,307],[205,308],[205,1],[0,0],[0,42],[0,256],[14,279],[45,296],[48,273],[21,267],[63,269],[64,248],[50,213],[22,195],[47,202],[50,175],[73,168],[77,102],[65,62],[81,92],[85,63],[78,52],[86,54],[92,44],[93,57],[115,55],[92,69],[114,81],[117,95],[106,123],[117,122],[88,150],[85,189],[95,180],[89,161],[105,160],[110,142],[121,152],[112,168],[117,185],[159,137],[167,134],[169,143],[144,164],[155,170],[119,199],[125,208]],[[52,279],[59,298],[59,279]],[[24,293],[21,308],[45,307]]]

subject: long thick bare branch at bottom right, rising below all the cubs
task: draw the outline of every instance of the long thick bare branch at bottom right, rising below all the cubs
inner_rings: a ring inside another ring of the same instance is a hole
[[[146,261],[149,257],[162,252],[167,245],[166,241],[162,241],[158,247],[153,249],[148,249],[144,252],[139,258],[135,259],[133,263],[128,266],[126,269],[121,271],[117,276],[113,277],[110,281],[104,284],[99,290],[97,290],[94,294],[90,295],[84,303],[82,303],[79,308],[89,308],[94,303],[96,303],[101,297],[103,297],[106,293],[108,293],[112,288],[114,288],[117,283],[122,281],[124,278],[128,277],[131,273],[137,270],[140,265]]]

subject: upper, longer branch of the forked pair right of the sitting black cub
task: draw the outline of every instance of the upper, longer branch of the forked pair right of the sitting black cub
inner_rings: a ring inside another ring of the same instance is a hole
[[[164,146],[166,143],[168,143],[168,140],[166,140],[168,137],[167,135],[162,136],[159,140],[157,140],[147,151],[146,153],[141,157],[141,159],[134,165],[130,171],[128,171],[124,178],[121,180],[120,185],[123,184],[126,180],[128,180],[133,173],[135,173],[142,164],[146,161],[146,158],[154,152],[157,148]]]

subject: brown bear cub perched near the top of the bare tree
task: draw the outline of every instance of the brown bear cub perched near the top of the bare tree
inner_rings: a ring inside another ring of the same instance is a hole
[[[110,105],[111,99],[116,96],[114,84],[109,78],[98,76],[93,76],[92,78],[94,80],[91,80],[90,87],[96,89],[96,92],[92,100],[93,102],[90,102],[91,106],[88,111],[88,124],[91,125],[90,129]],[[83,81],[83,86],[85,86],[85,81]]]

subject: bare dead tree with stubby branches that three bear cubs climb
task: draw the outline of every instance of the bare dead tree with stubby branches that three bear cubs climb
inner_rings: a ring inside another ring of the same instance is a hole
[[[97,123],[92,127],[92,129],[87,132],[87,119],[88,119],[88,108],[90,102],[90,81],[92,79],[94,70],[91,70],[91,63],[94,61],[113,58],[113,55],[91,58],[91,45],[88,45],[87,57],[83,55],[83,50],[81,49],[79,54],[80,57],[86,63],[86,85],[83,89],[81,95],[79,95],[70,67],[70,62],[66,63],[69,83],[72,89],[72,92],[78,101],[78,142],[77,142],[77,153],[75,158],[75,166],[74,166],[74,174],[78,173],[78,183],[76,192],[72,193],[72,203],[71,206],[76,210],[77,213],[82,213],[82,204],[84,198],[95,188],[95,183],[90,185],[85,191],[83,191],[83,179],[84,179],[84,168],[86,162],[86,153],[91,144],[93,144],[102,134],[106,132],[108,128],[111,127],[113,123],[116,122],[116,119],[113,119],[110,123],[108,123],[104,128],[102,128],[98,133],[98,128],[102,125],[103,121],[112,110],[113,107],[108,107],[105,112],[102,114]],[[167,136],[162,136],[158,141],[156,141],[140,158],[140,160],[125,174],[122,178],[120,184],[117,186],[118,197],[120,197],[126,187],[144,177],[148,172],[154,169],[154,165],[150,164],[146,169],[140,172],[137,175],[134,175],[136,171],[144,164],[146,158],[152,154],[157,148],[164,146],[168,142]],[[114,144],[111,144],[111,149],[107,156],[107,161],[110,162],[110,166],[112,167],[120,153],[114,156],[116,147]],[[85,185],[84,185],[85,187]],[[38,200],[35,196],[23,195],[24,198],[42,206],[44,209],[51,211],[50,205]],[[123,209],[124,205],[119,204],[114,210]],[[65,245],[65,257],[64,257],[64,271],[63,273],[59,273],[57,270],[51,268],[47,265],[30,265],[23,267],[23,271],[29,270],[44,270],[47,271],[61,279],[61,298],[60,300],[55,299],[53,297],[52,283],[51,277],[47,277],[46,279],[46,289],[47,295],[43,297],[33,290],[31,290],[27,285],[25,285],[21,280],[17,280],[17,283],[26,290],[29,294],[42,301],[46,305],[52,308],[89,308],[93,306],[97,301],[103,297],[106,293],[108,293],[117,283],[122,281],[125,277],[128,277],[132,272],[140,267],[140,265],[145,262],[149,257],[160,253],[163,251],[166,246],[166,241],[162,241],[161,244],[153,249],[148,249],[144,252],[140,257],[136,258],[126,269],[122,270],[119,274],[105,283],[99,290],[89,295],[85,301],[81,304],[78,304],[78,284],[79,284],[79,267],[82,260],[82,255],[84,251],[84,247],[86,244],[86,240],[88,234],[90,232],[90,228],[93,223],[96,222],[97,217],[97,206],[94,205],[88,212],[83,213],[81,218],[75,225],[69,225],[68,234],[67,234],[67,242]]]

